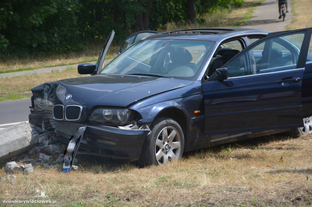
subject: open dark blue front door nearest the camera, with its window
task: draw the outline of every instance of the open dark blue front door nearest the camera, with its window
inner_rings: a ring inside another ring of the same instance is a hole
[[[228,77],[205,81],[205,135],[301,127],[310,37],[310,28],[269,34],[223,66]]]

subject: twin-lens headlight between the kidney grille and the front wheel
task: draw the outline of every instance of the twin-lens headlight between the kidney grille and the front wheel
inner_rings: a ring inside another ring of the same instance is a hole
[[[129,114],[128,109],[98,108],[92,113],[90,121],[124,124],[127,123]]]

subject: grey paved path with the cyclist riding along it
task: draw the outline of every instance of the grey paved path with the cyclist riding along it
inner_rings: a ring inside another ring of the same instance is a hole
[[[294,16],[291,14],[291,0],[288,2],[288,13],[286,13],[285,21],[279,19],[278,1],[266,0],[261,3],[253,12],[252,18],[241,25],[244,28],[252,28],[258,30],[266,30],[271,32],[284,31],[285,26],[289,25]]]

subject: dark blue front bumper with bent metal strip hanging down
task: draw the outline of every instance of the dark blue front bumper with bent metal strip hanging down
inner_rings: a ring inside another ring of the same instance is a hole
[[[107,163],[136,161],[141,154],[144,140],[150,132],[149,129],[119,129],[98,124],[64,121],[56,121],[55,129],[56,133],[63,138],[62,141],[67,143],[69,141],[63,172],[64,169],[66,172],[71,170],[76,154],[99,156]]]

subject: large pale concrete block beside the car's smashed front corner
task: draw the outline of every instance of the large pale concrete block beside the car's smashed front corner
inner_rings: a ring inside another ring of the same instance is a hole
[[[0,162],[26,152],[38,142],[29,123],[22,122],[0,130]]]

